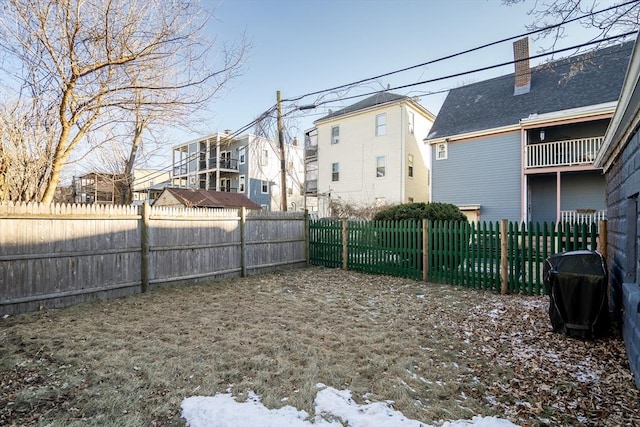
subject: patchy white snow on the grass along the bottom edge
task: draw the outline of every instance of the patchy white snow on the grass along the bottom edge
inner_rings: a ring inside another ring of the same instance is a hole
[[[359,405],[349,390],[336,390],[318,384],[321,390],[314,401],[315,416],[292,406],[268,409],[260,397],[249,392],[245,402],[238,402],[230,393],[215,396],[193,396],[182,401],[182,417],[190,427],[428,427],[410,420],[394,410],[389,403],[374,402]],[[476,416],[471,420],[447,421],[442,427],[513,427],[515,424],[496,418]]]

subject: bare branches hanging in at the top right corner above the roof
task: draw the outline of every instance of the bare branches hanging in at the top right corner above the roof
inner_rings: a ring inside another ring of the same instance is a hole
[[[585,28],[597,30],[593,40],[635,31],[640,24],[640,2],[619,0],[613,5],[603,5],[598,0],[502,0],[505,5],[531,4],[528,14],[533,22],[526,26],[529,31],[538,31],[536,39],[549,39],[550,45],[543,50],[554,50],[559,40],[565,37],[566,28],[555,26],[581,16],[578,22]],[[618,6],[608,8],[607,6]],[[607,11],[596,13],[604,9]],[[551,27],[551,28],[548,28]],[[545,30],[546,28],[546,30]]]

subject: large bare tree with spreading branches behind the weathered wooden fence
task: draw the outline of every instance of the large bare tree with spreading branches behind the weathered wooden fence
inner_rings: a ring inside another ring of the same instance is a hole
[[[41,200],[91,133],[135,123],[139,146],[152,123],[179,122],[239,70],[244,40],[210,59],[208,14],[188,0],[0,0],[5,76],[17,76],[52,135]],[[13,68],[12,68],[13,67]],[[17,68],[17,69],[16,69]],[[50,120],[53,118],[53,120]],[[34,141],[27,141],[34,144]],[[137,145],[136,145],[137,144]],[[137,148],[132,147],[131,163]]]

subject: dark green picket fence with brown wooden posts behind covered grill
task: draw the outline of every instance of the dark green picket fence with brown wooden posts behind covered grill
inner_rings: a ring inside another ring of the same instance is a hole
[[[596,224],[309,221],[311,264],[528,295],[550,255],[597,244]]]

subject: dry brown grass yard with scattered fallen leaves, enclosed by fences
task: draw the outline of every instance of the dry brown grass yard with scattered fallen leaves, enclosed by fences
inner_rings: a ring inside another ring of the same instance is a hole
[[[313,413],[318,383],[429,424],[638,425],[619,337],[550,331],[548,297],[328,268],[0,319],[0,424],[184,425],[194,395]]]

